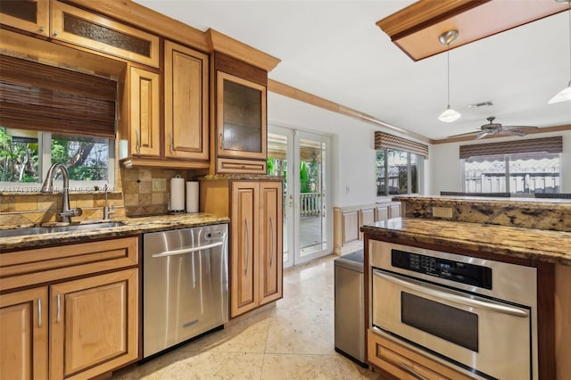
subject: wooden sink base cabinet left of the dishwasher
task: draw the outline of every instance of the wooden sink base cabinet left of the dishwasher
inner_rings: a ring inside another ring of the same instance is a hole
[[[0,254],[1,380],[89,379],[138,359],[138,239]]]

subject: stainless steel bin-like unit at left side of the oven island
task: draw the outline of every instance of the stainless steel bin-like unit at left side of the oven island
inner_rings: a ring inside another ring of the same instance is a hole
[[[335,351],[365,364],[365,295],[363,251],[334,261],[335,268]]]

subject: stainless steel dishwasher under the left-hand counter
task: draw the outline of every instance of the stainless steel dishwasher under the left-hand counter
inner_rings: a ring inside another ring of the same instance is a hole
[[[228,322],[228,224],[143,235],[143,357]]]

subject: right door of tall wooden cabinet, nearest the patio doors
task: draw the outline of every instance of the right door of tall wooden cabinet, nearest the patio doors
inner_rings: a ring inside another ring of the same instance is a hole
[[[260,303],[281,298],[283,285],[282,184],[260,183]]]

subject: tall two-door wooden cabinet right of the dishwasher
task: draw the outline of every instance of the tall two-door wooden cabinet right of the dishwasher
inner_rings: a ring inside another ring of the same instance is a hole
[[[230,217],[230,318],[283,295],[281,180],[203,180],[200,210]]]

